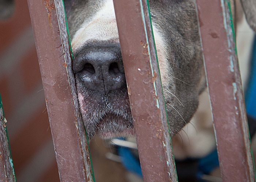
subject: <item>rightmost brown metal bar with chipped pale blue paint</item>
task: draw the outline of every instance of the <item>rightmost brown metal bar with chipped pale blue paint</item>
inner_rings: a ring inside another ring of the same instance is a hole
[[[196,0],[223,182],[255,181],[229,0]]]

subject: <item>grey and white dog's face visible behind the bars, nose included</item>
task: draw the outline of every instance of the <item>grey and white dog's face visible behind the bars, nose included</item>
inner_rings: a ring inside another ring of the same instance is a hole
[[[64,2],[80,111],[89,137],[132,135],[112,0]],[[193,0],[149,0],[149,4],[168,121],[174,135],[195,113],[198,96],[206,85],[196,11]]]

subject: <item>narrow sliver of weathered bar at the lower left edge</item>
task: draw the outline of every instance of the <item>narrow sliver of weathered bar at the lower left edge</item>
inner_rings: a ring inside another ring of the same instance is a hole
[[[0,181],[16,181],[12,163],[11,150],[6,128],[7,120],[4,117],[3,104],[0,96]]]

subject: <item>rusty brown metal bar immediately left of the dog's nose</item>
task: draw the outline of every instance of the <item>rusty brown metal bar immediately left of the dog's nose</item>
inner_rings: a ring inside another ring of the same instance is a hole
[[[94,181],[63,1],[28,0],[28,4],[60,181]]]

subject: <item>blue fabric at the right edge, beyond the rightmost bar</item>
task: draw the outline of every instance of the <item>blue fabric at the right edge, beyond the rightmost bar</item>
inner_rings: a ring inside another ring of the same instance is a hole
[[[249,80],[245,92],[245,105],[247,114],[256,119],[256,36],[253,43]]]

